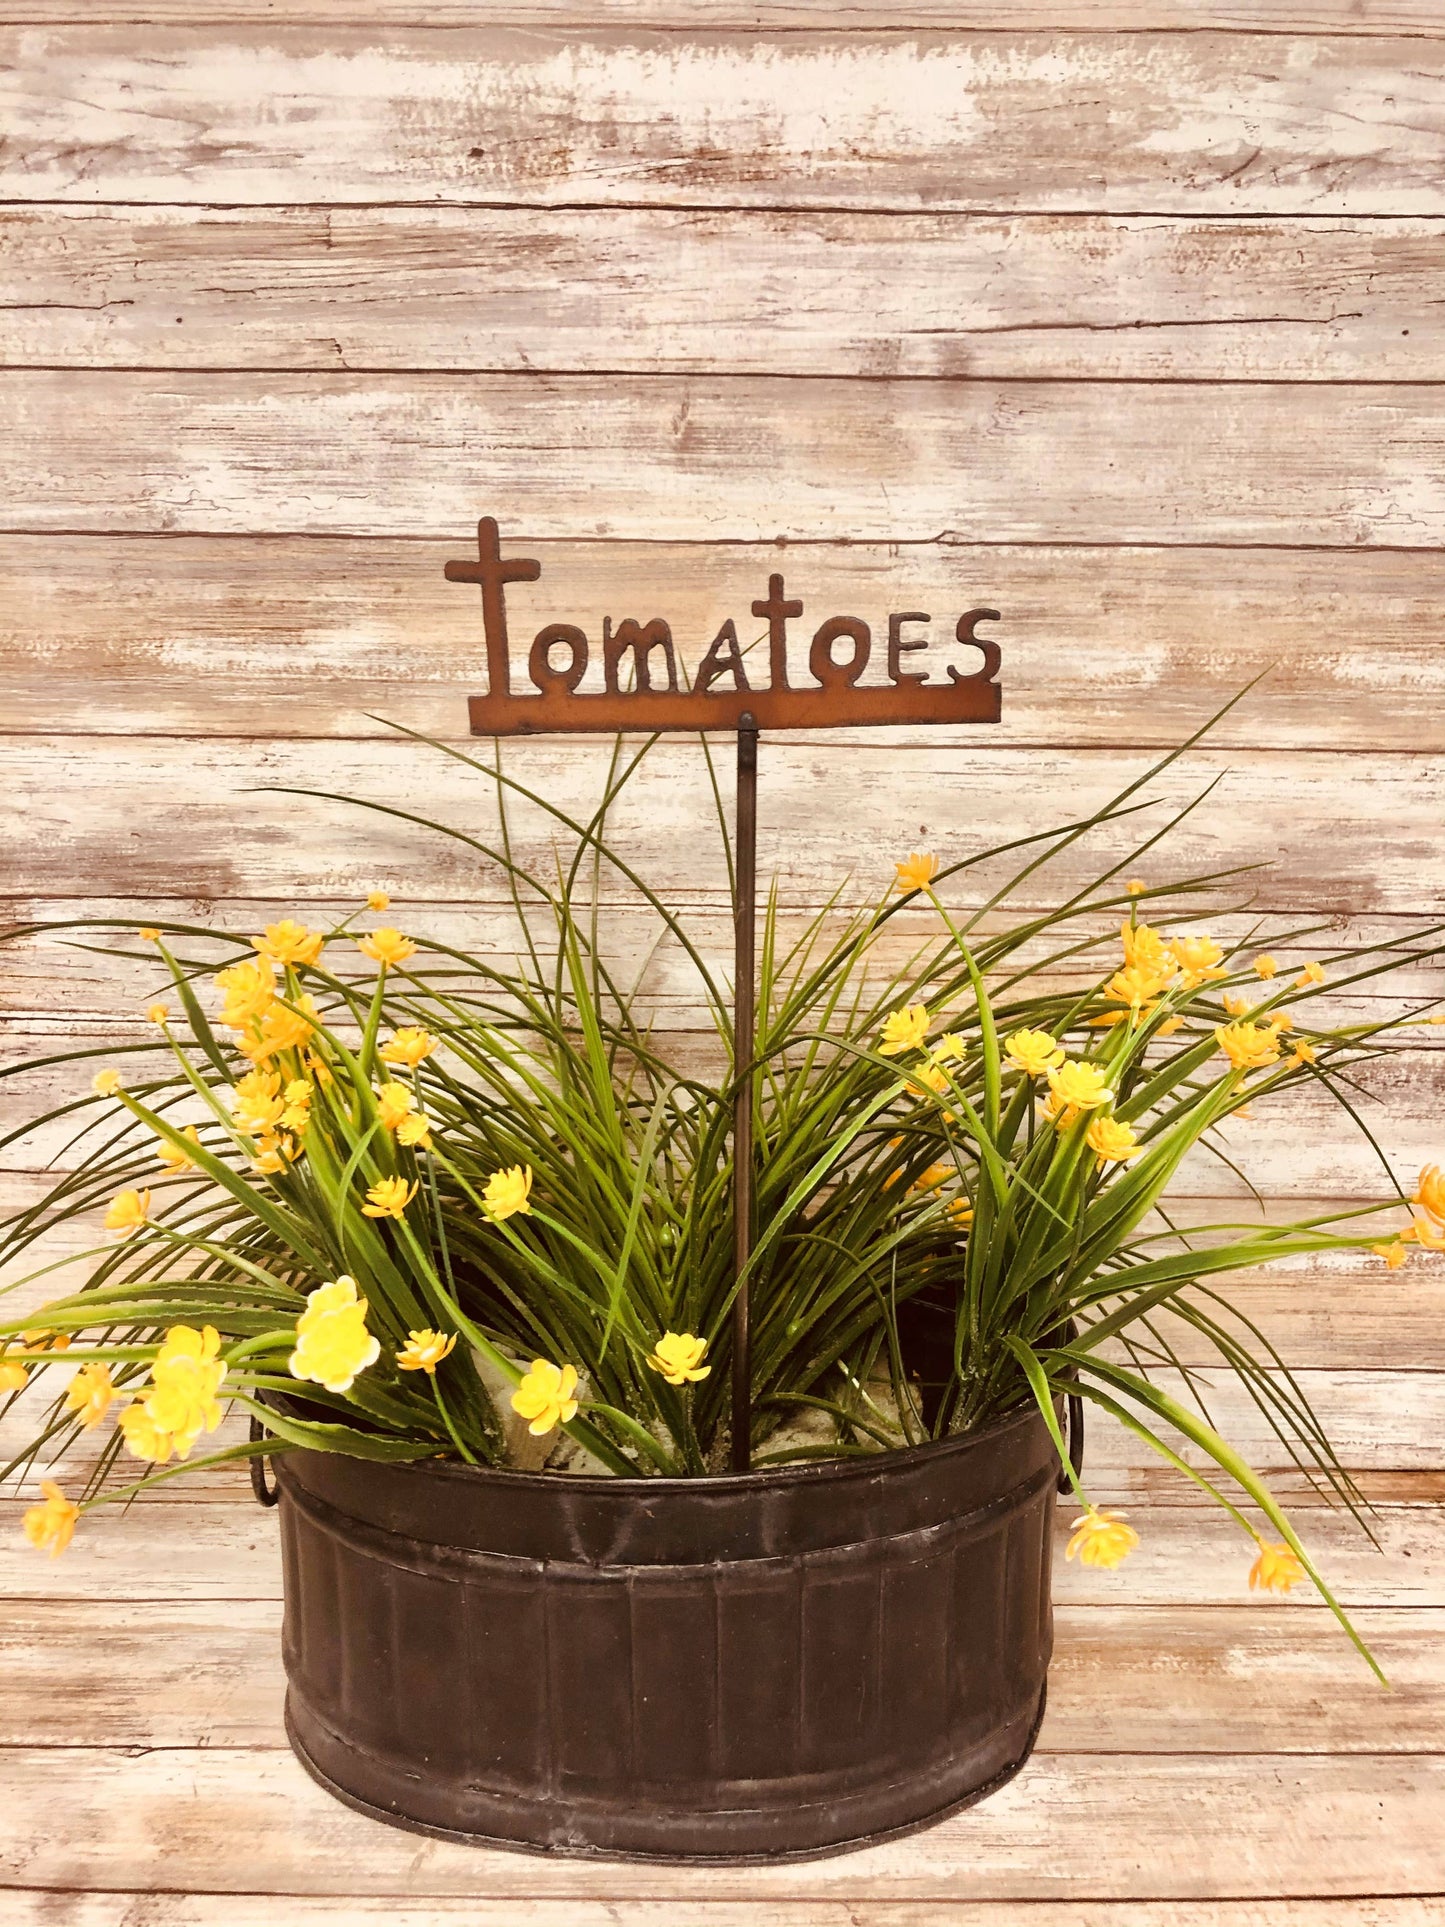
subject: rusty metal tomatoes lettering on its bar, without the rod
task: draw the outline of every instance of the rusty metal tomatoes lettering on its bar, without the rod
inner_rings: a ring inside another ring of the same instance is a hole
[[[738,728],[744,715],[761,730],[838,728],[871,723],[998,723],[998,644],[977,632],[979,622],[998,622],[998,609],[965,609],[954,626],[956,640],[973,655],[963,667],[948,663],[948,680],[931,682],[904,657],[927,649],[927,638],[907,634],[927,624],[921,609],[888,615],[884,642],[886,682],[863,682],[873,657],[873,630],[855,615],[832,615],[817,624],[807,649],[813,684],[788,682],[788,622],[801,620],[803,601],[788,595],[782,574],[771,574],[767,595],[751,613],[767,622],[769,684],[748,678],[738,626],[732,617],[707,646],[692,688],[678,678],[672,630],[663,617],[640,622],[624,617],[601,624],[603,688],[582,692],[593,661],[593,644],[574,622],[547,622],[532,640],[528,674],[532,690],[512,692],[507,586],[536,582],[541,563],[505,557],[493,516],[476,524],[478,559],[447,563],[449,582],[482,588],[482,628],[487,647],[487,694],[470,700],[474,736],[538,736],[553,732],[613,730],[707,730]],[[979,661],[981,657],[981,661]]]

